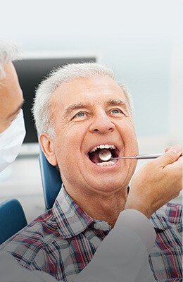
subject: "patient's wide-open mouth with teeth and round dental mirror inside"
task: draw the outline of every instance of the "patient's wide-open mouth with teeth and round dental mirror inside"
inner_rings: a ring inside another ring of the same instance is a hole
[[[113,166],[119,157],[120,151],[115,145],[98,145],[88,152],[88,157],[97,166]]]

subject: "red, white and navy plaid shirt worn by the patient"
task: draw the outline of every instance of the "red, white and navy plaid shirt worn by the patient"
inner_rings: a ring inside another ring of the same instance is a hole
[[[157,281],[182,281],[181,215],[181,205],[167,204],[151,218],[157,238],[149,262]],[[53,209],[7,240],[1,250],[11,252],[27,269],[68,282],[87,266],[109,231],[108,223],[88,216],[62,188]]]

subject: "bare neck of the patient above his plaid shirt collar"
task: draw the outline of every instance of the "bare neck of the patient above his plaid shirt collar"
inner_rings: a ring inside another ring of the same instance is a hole
[[[81,193],[77,189],[67,190],[74,200],[93,219],[106,221],[112,228],[127,201],[127,188],[114,192],[112,195],[99,195],[98,193]],[[79,197],[78,197],[79,195]]]

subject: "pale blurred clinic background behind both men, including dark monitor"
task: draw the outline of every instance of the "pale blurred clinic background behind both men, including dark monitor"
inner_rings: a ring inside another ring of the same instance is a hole
[[[183,144],[182,12],[180,0],[1,1],[0,39],[25,50],[15,67],[27,101],[27,137],[15,163],[0,173],[0,202],[18,198],[27,221],[44,212],[30,107],[34,88],[56,63],[113,68],[132,93],[141,154]]]

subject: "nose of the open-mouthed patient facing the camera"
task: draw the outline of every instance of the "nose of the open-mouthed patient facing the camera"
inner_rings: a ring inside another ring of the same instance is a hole
[[[94,117],[94,121],[89,126],[91,133],[109,133],[115,129],[114,123],[111,122],[110,118],[106,113],[100,113]]]

